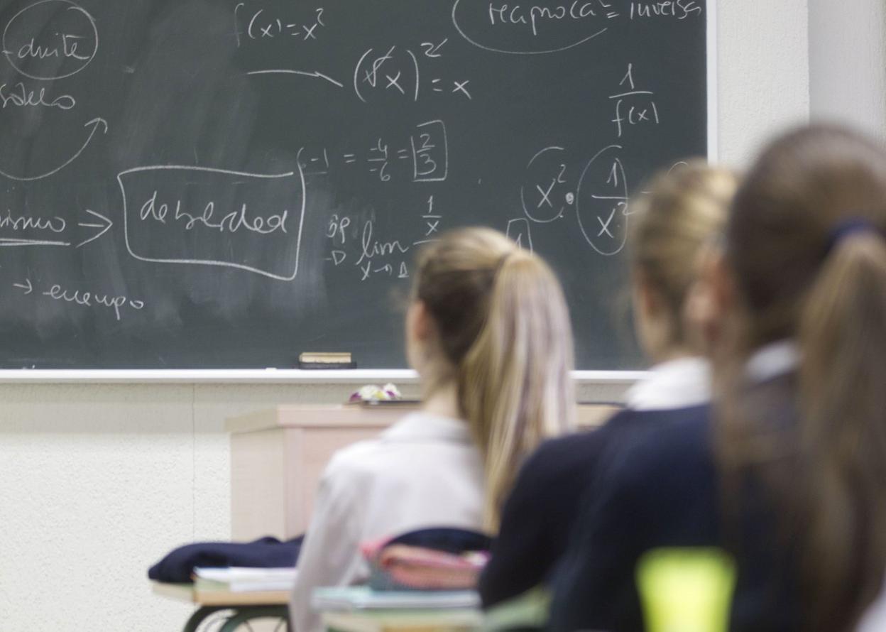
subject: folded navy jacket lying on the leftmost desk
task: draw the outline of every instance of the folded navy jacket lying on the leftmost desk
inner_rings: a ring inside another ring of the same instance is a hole
[[[286,542],[265,537],[255,542],[197,542],[173,550],[148,570],[154,581],[190,583],[196,566],[220,568],[246,566],[251,568],[282,568],[295,566],[305,536]]]

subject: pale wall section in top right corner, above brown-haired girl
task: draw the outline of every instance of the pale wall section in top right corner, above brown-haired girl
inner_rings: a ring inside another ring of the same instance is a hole
[[[813,119],[849,122],[886,140],[886,6],[810,0]]]

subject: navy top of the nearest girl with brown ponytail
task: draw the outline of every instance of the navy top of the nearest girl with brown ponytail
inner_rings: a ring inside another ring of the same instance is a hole
[[[658,547],[697,546],[736,558],[733,632],[801,629],[793,553],[775,535],[762,488],[746,480],[741,498],[729,499],[741,503],[740,518],[724,521],[710,409],[682,417],[622,441],[599,472],[556,573],[551,632],[641,632],[638,560]]]

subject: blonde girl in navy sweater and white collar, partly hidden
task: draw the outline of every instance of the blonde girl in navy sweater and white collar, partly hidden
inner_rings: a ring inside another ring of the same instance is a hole
[[[544,581],[566,550],[588,480],[623,434],[680,417],[710,401],[703,340],[688,324],[699,262],[726,222],[738,180],[702,161],[663,172],[632,205],[629,239],[633,312],[650,377],[626,395],[626,410],[602,428],[546,441],[520,470],[505,504],[493,557],[480,578],[485,607]]]

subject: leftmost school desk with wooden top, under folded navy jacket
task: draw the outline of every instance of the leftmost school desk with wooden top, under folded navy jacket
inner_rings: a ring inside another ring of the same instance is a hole
[[[234,632],[247,621],[271,619],[283,621],[288,628],[289,591],[270,592],[228,592],[227,590],[198,590],[191,584],[167,584],[152,581],[155,595],[198,605],[184,624],[183,632],[196,632],[200,624],[216,612],[229,612],[225,615],[218,632]]]

